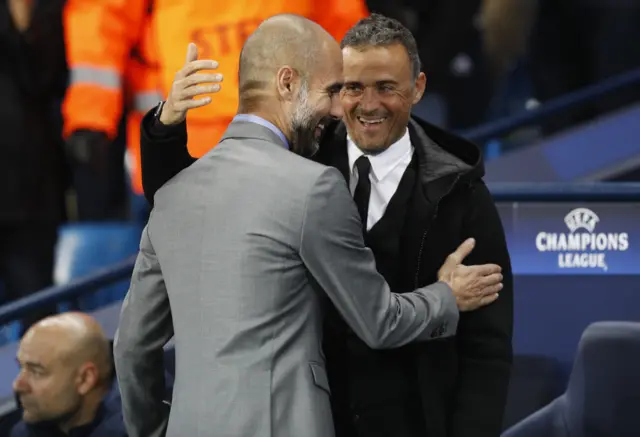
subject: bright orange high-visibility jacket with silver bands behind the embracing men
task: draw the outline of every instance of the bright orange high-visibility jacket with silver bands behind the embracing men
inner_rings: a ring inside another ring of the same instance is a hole
[[[166,98],[189,42],[198,45],[200,59],[218,61],[224,75],[213,103],[187,118],[189,152],[200,157],[237,111],[242,44],[261,21],[279,13],[310,18],[338,41],[368,15],[364,0],[67,0],[65,135],[91,129],[114,138],[126,104],[132,185],[141,194],[140,120]]]

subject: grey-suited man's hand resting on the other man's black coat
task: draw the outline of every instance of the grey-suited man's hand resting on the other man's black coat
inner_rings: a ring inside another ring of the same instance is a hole
[[[451,287],[460,311],[473,311],[494,302],[503,286],[499,265],[462,264],[474,247],[475,240],[466,240],[447,257],[438,272],[438,279]]]

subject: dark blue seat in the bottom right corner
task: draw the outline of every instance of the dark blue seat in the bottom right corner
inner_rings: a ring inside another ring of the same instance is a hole
[[[637,437],[640,323],[597,322],[582,335],[567,391],[502,437]]]

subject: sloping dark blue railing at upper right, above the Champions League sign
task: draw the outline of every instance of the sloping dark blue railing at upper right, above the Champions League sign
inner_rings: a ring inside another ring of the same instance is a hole
[[[499,138],[513,132],[516,129],[540,123],[560,113],[571,111],[578,106],[597,101],[604,95],[637,84],[640,84],[640,68],[581,90],[565,94],[546,102],[536,109],[523,112],[513,117],[486,123],[466,132],[461,132],[460,134],[478,144],[482,144],[488,140]]]

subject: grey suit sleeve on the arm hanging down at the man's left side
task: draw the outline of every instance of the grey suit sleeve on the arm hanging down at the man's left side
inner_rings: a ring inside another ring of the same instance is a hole
[[[166,433],[169,407],[163,403],[163,346],[172,336],[169,296],[145,227],[114,342],[122,414],[129,437],[160,437]]]

